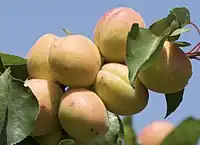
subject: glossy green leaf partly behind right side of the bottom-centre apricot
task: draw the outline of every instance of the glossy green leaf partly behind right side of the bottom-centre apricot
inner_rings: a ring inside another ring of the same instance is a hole
[[[108,111],[109,130],[105,136],[96,138],[90,145],[122,145],[122,134],[117,115]],[[120,142],[121,141],[121,142]]]

